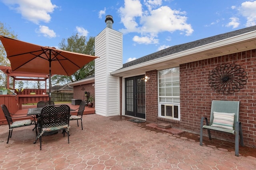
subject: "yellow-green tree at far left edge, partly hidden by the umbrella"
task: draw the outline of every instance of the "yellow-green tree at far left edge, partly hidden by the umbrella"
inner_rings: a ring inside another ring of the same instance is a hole
[[[4,25],[4,23],[2,23],[2,22],[0,22],[0,35],[9,37],[12,39],[17,39],[17,35],[13,31],[10,31],[10,28],[7,28]],[[2,45],[1,41],[0,41],[0,65],[1,66],[10,66],[10,61],[6,57],[6,51],[5,51],[4,46]],[[0,71],[0,82],[2,82],[1,83],[2,86],[5,86],[5,87],[7,86],[6,76],[2,71]],[[12,82],[12,80],[11,80],[11,82]]]

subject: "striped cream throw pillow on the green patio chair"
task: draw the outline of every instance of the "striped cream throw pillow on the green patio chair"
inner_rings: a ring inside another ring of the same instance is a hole
[[[234,130],[235,113],[213,112],[212,126]]]

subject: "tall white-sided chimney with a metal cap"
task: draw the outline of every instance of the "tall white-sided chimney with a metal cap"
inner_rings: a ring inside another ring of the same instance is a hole
[[[106,16],[107,27],[95,37],[95,113],[120,115],[119,77],[110,72],[122,68],[123,35],[112,29],[112,16]]]

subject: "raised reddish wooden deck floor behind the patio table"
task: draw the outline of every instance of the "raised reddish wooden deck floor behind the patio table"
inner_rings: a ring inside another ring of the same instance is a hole
[[[79,105],[72,105],[71,103],[66,103],[66,105],[68,105],[70,107],[70,109],[75,109],[76,110],[76,111],[70,112],[71,115],[76,115],[77,114]],[[35,108],[35,107],[36,107],[36,105],[22,105],[22,109],[18,110],[16,113],[14,113],[13,118],[19,117],[22,114],[26,114],[26,113],[28,113],[28,108]],[[95,113],[95,107],[88,107],[88,106],[85,107],[84,115],[94,114],[94,113]]]

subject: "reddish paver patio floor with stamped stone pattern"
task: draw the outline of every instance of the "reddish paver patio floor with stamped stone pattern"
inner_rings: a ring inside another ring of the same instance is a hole
[[[6,144],[8,125],[0,126],[1,170],[255,170],[256,149],[217,142],[199,145],[198,135],[172,135],[133,123],[127,117],[83,116],[83,126],[70,121],[70,143],[61,132],[33,144],[32,126],[14,129]],[[207,138],[204,142],[207,142]]]

